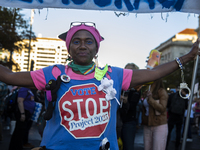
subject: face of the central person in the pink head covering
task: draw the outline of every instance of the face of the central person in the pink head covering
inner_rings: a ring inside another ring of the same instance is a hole
[[[97,45],[93,35],[86,31],[77,31],[70,42],[69,54],[75,64],[89,65],[97,53]]]

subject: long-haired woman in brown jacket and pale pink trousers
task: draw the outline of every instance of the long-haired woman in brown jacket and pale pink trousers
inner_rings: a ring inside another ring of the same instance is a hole
[[[143,101],[144,149],[165,150],[167,143],[168,94],[162,79],[153,82]]]

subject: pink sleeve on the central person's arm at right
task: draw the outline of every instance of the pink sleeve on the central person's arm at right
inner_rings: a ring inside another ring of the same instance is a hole
[[[122,90],[128,90],[131,80],[132,80],[133,71],[131,69],[123,69],[123,82],[122,82]]]

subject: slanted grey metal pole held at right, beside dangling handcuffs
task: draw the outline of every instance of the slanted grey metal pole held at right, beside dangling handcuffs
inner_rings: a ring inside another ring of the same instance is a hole
[[[199,15],[199,27],[197,29],[198,37],[200,37],[200,15]],[[198,68],[198,63],[199,63],[199,56],[197,55],[196,57],[196,62],[193,68],[193,75],[192,75],[192,83],[191,83],[191,96],[189,100],[189,105],[187,109],[187,117],[185,121],[185,127],[184,127],[184,135],[183,135],[183,143],[182,143],[182,148],[181,150],[185,150],[185,145],[186,145],[186,139],[187,139],[187,133],[188,133],[188,126],[189,126],[189,121],[190,121],[190,113],[191,113],[191,106],[192,106],[192,101],[193,101],[193,94],[194,94],[194,85],[195,85],[195,80],[196,80],[196,74],[197,74],[197,68]]]

